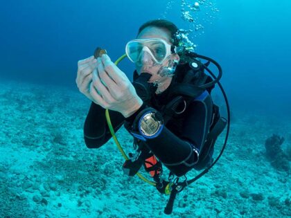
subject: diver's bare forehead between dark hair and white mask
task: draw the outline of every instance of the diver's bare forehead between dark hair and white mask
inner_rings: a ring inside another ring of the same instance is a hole
[[[150,39],[150,38],[159,38],[164,39],[166,42],[170,40],[170,33],[164,28],[157,28],[149,26],[141,31],[137,36],[137,39]]]

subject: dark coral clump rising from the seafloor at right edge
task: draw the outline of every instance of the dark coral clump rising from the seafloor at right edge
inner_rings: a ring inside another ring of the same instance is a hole
[[[287,155],[283,152],[281,145],[284,142],[284,138],[276,134],[273,134],[265,141],[265,149],[267,158],[270,160],[272,166],[276,170],[289,171],[290,165]]]

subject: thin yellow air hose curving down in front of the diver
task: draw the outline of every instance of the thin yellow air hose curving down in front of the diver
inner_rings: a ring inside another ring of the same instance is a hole
[[[114,62],[115,65],[118,65],[119,62],[121,62],[125,57],[127,57],[126,54],[122,55],[121,57],[118,58],[118,60],[116,60],[116,62]],[[121,147],[120,143],[118,142],[118,139],[116,138],[115,136],[115,132],[114,132],[114,129],[112,127],[112,123],[111,123],[111,120],[110,120],[110,116],[109,116],[109,111],[108,109],[106,109],[105,111],[105,116],[106,116],[106,120],[107,120],[107,125],[109,127],[109,130],[110,130],[110,133],[112,134],[112,138],[114,139],[114,142],[116,143],[119,151],[121,152],[122,156],[125,158],[125,160],[128,160],[128,156],[125,154],[123,148]],[[150,185],[154,185],[156,186],[156,183],[155,182],[152,182],[152,181],[149,181],[148,179],[146,179],[143,175],[141,175],[139,172],[136,173],[137,176],[139,176],[139,178],[143,181],[145,181],[146,183],[149,183]]]

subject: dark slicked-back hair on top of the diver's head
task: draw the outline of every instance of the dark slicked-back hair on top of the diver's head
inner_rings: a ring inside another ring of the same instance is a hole
[[[147,21],[145,24],[141,25],[141,27],[139,28],[139,33],[141,33],[141,31],[147,27],[157,27],[157,28],[164,28],[168,30],[168,32],[170,33],[170,37],[171,37],[170,39],[173,42],[173,45],[178,46],[178,42],[175,37],[175,34],[177,33],[177,30],[179,29],[171,21],[167,21],[166,19],[154,19],[154,20]],[[139,35],[139,33],[137,33],[137,35]]]

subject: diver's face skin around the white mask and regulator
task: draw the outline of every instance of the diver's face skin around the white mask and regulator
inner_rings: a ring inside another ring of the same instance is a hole
[[[170,33],[168,30],[165,30],[163,28],[157,28],[157,27],[147,27],[144,30],[139,33],[138,37],[136,39],[164,39],[168,44],[172,45],[170,42]],[[136,71],[139,73],[150,73],[152,77],[150,78],[149,82],[158,82],[162,83],[164,82],[168,77],[161,75],[161,70],[165,67],[171,67],[173,64],[173,60],[179,61],[179,56],[177,54],[171,54],[169,55],[164,62],[161,62],[161,64],[157,64],[150,55],[143,51],[141,53],[141,58],[138,62],[135,63],[136,65]]]

